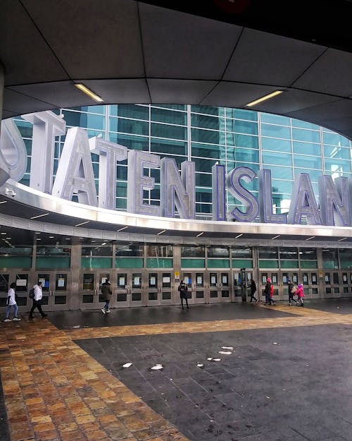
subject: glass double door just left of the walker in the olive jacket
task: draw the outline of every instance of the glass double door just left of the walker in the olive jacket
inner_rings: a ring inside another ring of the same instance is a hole
[[[110,281],[108,272],[83,272],[80,277],[80,308],[99,309],[103,307],[101,285]]]

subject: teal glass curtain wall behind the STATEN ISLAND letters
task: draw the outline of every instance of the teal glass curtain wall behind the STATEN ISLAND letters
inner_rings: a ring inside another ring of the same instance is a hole
[[[225,107],[116,104],[58,109],[67,128],[87,129],[89,138],[101,135],[113,143],[143,150],[181,162],[191,160],[196,169],[196,219],[211,219],[211,167],[224,165],[227,172],[246,166],[254,171],[270,169],[272,203],[277,214],[287,212],[295,176],[308,173],[318,200],[318,177],[322,174],[351,176],[351,141],[343,136],[286,116],[264,114]],[[21,183],[29,184],[32,125],[15,119],[23,135],[29,161]],[[65,136],[56,138],[54,174]],[[99,156],[92,155],[96,188]],[[156,180],[152,190],[144,191],[144,203],[160,200],[160,171],[151,169]],[[258,179],[246,184],[257,196]],[[118,162],[116,209],[127,207],[127,161]],[[244,210],[239,200],[227,192],[227,212]]]

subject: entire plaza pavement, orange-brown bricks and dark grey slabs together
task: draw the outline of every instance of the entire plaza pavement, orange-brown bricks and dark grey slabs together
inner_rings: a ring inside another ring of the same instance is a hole
[[[351,301],[184,312],[1,322],[0,440],[352,441]]]

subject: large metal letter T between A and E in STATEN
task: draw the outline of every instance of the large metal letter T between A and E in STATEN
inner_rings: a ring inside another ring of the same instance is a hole
[[[99,207],[116,209],[116,162],[127,158],[127,147],[101,138],[89,139],[91,152],[99,155]]]

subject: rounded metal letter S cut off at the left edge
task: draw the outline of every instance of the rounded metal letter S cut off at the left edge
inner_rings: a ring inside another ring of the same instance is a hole
[[[0,186],[8,178],[20,181],[27,169],[25,143],[12,119],[1,123],[0,135]]]

